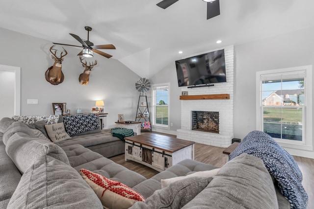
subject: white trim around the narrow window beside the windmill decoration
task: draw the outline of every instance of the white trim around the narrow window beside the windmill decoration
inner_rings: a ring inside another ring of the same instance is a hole
[[[155,101],[155,94],[154,94],[154,89],[156,87],[160,86],[168,86],[168,125],[161,125],[161,124],[156,124],[156,115],[155,115],[155,110],[156,110],[156,101]],[[167,129],[170,130],[170,83],[161,83],[161,84],[153,84],[152,85],[152,127],[153,128],[160,128],[160,129]]]

